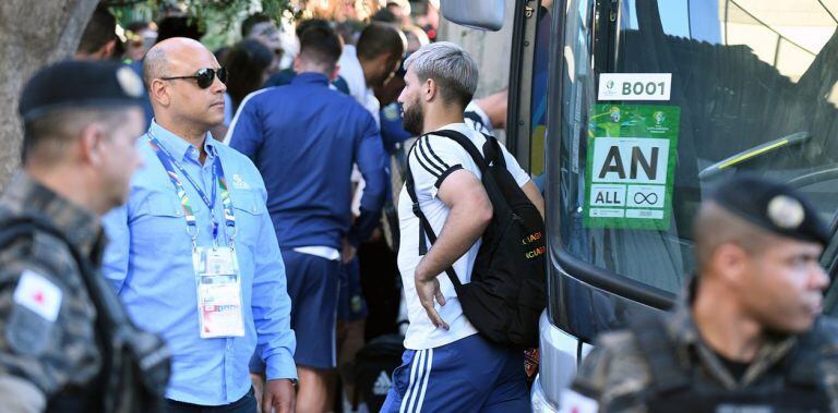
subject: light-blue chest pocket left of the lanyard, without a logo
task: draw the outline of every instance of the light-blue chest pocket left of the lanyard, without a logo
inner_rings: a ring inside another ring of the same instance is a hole
[[[172,255],[189,251],[192,240],[187,232],[183,207],[171,193],[152,192],[131,223],[132,243],[156,254]]]

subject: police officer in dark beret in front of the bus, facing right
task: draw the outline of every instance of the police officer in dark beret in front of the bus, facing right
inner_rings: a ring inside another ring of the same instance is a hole
[[[829,233],[809,202],[786,185],[737,175],[702,204],[694,235],[697,274],[674,312],[601,336],[563,404],[838,411],[838,329],[818,317],[829,282],[818,257]]]

